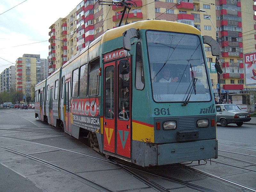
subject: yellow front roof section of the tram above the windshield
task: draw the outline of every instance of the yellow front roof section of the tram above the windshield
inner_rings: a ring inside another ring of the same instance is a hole
[[[201,35],[201,32],[194,26],[178,23],[173,21],[162,21],[162,20],[144,20],[137,21],[128,25],[124,25],[118,28],[110,29],[102,35],[102,42],[109,41],[116,37],[122,36],[123,32],[129,28],[135,29],[151,29],[159,31],[172,31],[180,33],[190,33]]]

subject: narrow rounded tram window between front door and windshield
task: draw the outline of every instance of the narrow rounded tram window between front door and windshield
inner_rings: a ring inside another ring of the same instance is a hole
[[[141,44],[138,43],[136,46],[136,70],[135,70],[135,87],[138,90],[144,88],[145,79],[143,72],[142,52]]]

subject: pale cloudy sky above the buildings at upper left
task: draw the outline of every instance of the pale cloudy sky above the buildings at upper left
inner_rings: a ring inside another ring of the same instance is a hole
[[[66,17],[81,1],[1,0],[0,73],[15,65],[23,54],[40,54],[41,59],[47,59],[49,27]]]

